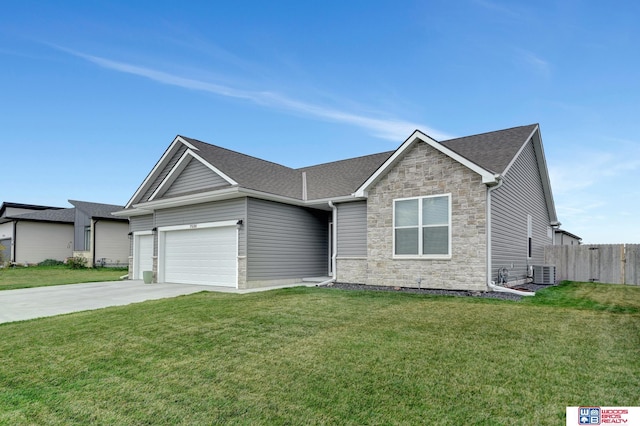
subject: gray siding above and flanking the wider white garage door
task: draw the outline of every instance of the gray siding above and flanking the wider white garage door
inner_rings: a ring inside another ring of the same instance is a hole
[[[245,198],[237,198],[158,210],[156,211],[155,226],[162,227],[222,222],[226,220],[245,220],[247,217],[246,205]],[[238,256],[244,256],[246,253],[245,234],[245,227],[240,227],[238,232]],[[157,240],[156,238],[154,253],[157,253]]]

